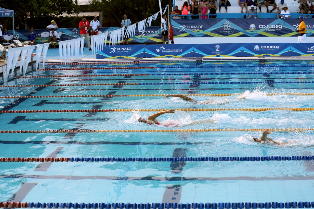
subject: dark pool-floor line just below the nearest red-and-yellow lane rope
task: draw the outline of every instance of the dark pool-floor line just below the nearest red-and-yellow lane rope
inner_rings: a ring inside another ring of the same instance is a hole
[[[99,141],[99,142],[79,142],[79,141],[28,141],[28,142],[21,142],[21,141],[0,141],[0,144],[78,144],[78,145],[101,145],[101,144],[118,144],[118,145],[196,145],[196,144],[212,144],[214,142],[106,142],[106,141]],[[180,156],[181,157],[181,156]],[[178,166],[177,166],[178,167]]]

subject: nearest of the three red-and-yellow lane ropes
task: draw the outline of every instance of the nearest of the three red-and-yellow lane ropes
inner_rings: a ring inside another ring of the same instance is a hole
[[[156,133],[156,132],[213,132],[213,131],[263,131],[264,128],[224,128],[224,129],[130,129],[130,130],[90,130],[90,129],[79,129],[79,130],[0,130],[0,133],[116,133],[116,132],[145,132],[145,133]],[[303,132],[303,131],[314,131],[314,128],[269,128],[273,132]]]

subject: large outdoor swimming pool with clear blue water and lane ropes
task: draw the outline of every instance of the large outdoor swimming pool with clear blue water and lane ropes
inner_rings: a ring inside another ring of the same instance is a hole
[[[73,159],[0,162],[0,201],[103,202],[112,207],[113,203],[236,202],[232,208],[242,208],[240,203],[246,202],[311,202],[313,64],[50,64],[45,71],[16,78],[0,92],[1,130],[11,132],[1,133],[0,157]],[[200,104],[163,98],[166,94],[185,94]],[[158,117],[160,126],[137,121],[163,108],[177,110]],[[228,128],[238,130],[221,130]],[[262,133],[251,129],[262,128],[304,131],[273,131],[274,140],[287,142],[278,146],[251,140]],[[15,133],[20,130],[60,132]],[[266,156],[270,158],[255,158]]]

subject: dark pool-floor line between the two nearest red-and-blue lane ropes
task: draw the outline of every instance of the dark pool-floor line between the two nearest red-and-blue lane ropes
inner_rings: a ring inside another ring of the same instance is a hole
[[[14,162],[20,163],[20,162]],[[62,162],[57,162],[62,164]],[[131,162],[134,163],[134,162]],[[141,162],[142,163],[142,162]],[[160,163],[160,162],[156,162]],[[238,177],[158,177],[158,176],[74,176],[74,175],[27,175],[27,174],[0,174],[0,178],[16,178],[16,179],[64,179],[64,180],[86,180],[86,179],[99,179],[99,180],[125,180],[125,181],[265,181],[265,180],[314,180],[313,175],[308,176],[276,176],[276,177],[253,177],[253,176],[238,176]]]

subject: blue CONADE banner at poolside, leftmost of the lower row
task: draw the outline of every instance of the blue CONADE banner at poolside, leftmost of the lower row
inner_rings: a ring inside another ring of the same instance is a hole
[[[107,45],[102,51],[98,50],[96,55],[96,59],[139,57],[144,57],[144,45]]]

